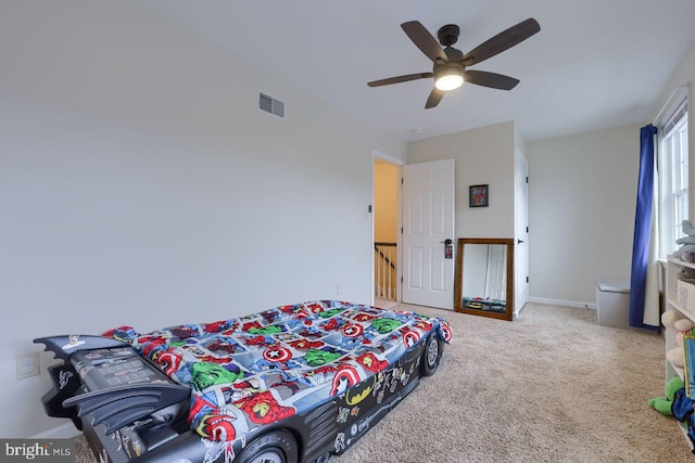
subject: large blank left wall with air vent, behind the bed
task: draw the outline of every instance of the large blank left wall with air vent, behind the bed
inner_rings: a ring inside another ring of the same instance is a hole
[[[371,300],[372,150],[404,144],[135,1],[4,2],[0,62],[0,436],[65,423],[15,380],[35,337]]]

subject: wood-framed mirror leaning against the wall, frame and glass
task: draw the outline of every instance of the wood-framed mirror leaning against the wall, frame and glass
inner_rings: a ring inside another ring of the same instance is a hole
[[[459,237],[456,242],[454,309],[514,319],[514,240]]]

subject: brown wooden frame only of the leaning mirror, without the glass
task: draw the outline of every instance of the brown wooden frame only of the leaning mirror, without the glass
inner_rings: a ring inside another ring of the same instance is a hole
[[[464,308],[464,246],[466,244],[504,244],[507,246],[507,306],[505,313],[488,312]],[[514,239],[506,237],[459,237],[456,240],[456,261],[454,263],[454,310],[471,316],[514,320]]]

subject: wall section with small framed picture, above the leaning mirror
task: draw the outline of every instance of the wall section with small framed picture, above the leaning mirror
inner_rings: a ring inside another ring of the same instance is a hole
[[[514,123],[408,143],[408,164],[455,159],[455,237],[514,236]],[[489,184],[489,207],[468,207],[468,187]]]

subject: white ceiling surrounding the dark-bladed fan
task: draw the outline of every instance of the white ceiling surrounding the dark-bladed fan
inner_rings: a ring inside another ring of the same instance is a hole
[[[527,140],[650,121],[695,44],[694,0],[141,1],[407,141],[513,119]],[[520,79],[511,91],[464,85],[425,110],[431,79],[367,87],[431,70],[406,21],[458,25],[465,53],[528,17],[539,34],[471,66]]]

